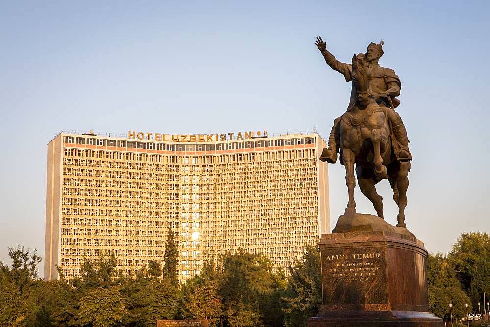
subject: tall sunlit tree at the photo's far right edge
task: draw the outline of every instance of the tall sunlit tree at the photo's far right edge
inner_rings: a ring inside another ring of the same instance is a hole
[[[461,234],[448,260],[473,306],[481,301],[483,292],[490,294],[490,237],[487,233]]]

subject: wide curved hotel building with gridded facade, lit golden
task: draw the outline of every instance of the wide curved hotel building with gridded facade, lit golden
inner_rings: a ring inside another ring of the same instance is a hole
[[[330,230],[324,146],[317,133],[61,132],[48,144],[44,277],[73,277],[101,251],[126,273],[163,266],[169,227],[181,282],[239,247],[286,267]]]

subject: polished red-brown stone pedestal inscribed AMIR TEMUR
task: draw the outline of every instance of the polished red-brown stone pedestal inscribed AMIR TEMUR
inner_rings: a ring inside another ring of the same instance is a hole
[[[308,326],[444,326],[429,312],[428,253],[413,234],[322,234],[319,248],[323,305]]]

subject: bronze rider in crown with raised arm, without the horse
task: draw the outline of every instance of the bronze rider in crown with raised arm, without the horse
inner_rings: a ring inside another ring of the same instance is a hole
[[[335,59],[335,57],[327,50],[327,43],[323,42],[320,37],[317,38],[315,44],[321,51],[321,54],[323,54],[328,66],[343,74],[345,80],[350,82],[352,78],[352,65],[341,63]],[[379,66],[379,58],[381,58],[384,53],[382,45],[383,41],[381,41],[379,44],[371,42],[368,46],[366,56],[371,72],[369,93],[379,105],[384,105],[386,108],[391,108],[386,110],[386,114],[388,120],[391,122],[393,135],[398,141],[398,160],[409,161],[412,160],[412,155],[408,149],[407,130],[405,129],[405,125],[403,124],[400,115],[394,111],[394,108],[398,107],[400,104],[400,101],[396,98],[396,96],[400,95],[401,82],[394,70]],[[347,111],[350,111],[353,108],[356,101],[357,92],[355,90],[354,83],[352,83],[352,92]],[[320,156],[321,161],[327,161],[328,163],[335,163],[337,161],[337,152],[339,152],[340,139],[339,122],[341,117],[334,120],[334,125],[332,127],[332,131],[330,132],[330,137],[328,138],[328,149],[323,149]]]

